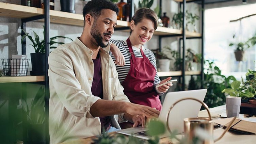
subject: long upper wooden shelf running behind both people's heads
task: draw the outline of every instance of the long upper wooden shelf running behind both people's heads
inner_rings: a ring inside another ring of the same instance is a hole
[[[43,15],[44,9],[29,7],[17,4],[0,2],[0,16],[1,17],[14,17],[14,18],[29,18],[33,16]],[[43,19],[39,21],[44,21]],[[73,14],[61,11],[50,10],[50,22],[60,23],[64,25],[83,26],[83,15]],[[130,22],[117,20],[117,28],[129,27]],[[124,30],[129,32],[130,30]],[[171,29],[165,27],[158,27],[154,35],[177,35],[182,34],[181,30]],[[186,31],[187,37],[200,37],[200,33]]]

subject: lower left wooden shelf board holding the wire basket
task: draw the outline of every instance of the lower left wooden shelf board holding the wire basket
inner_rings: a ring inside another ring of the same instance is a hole
[[[20,76],[20,77],[0,77],[0,83],[7,82],[39,82],[45,81],[45,76]]]

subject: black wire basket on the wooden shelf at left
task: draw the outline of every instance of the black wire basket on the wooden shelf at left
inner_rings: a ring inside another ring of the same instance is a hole
[[[27,76],[29,59],[2,59],[4,76]]]

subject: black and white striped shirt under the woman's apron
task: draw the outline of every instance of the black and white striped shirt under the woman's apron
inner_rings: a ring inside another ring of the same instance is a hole
[[[120,83],[122,84],[130,71],[131,54],[130,54],[130,51],[129,51],[126,41],[119,41],[119,40],[111,39],[110,42],[114,43],[120,49],[120,51],[123,53],[123,55],[125,57],[125,65],[124,66],[118,66],[117,64],[115,65],[117,73],[118,73],[118,79],[119,79]],[[145,56],[149,59],[150,63],[155,67],[156,72],[157,72],[156,58],[155,58],[154,53],[152,51],[150,51],[149,49],[145,48],[144,46],[142,48],[143,48],[143,52],[144,52]],[[140,49],[135,48],[135,47],[132,47],[132,49],[133,49],[135,57],[143,58]],[[111,52],[110,52],[110,56],[112,57],[112,59],[114,61],[116,60],[114,55]],[[159,83],[160,83],[160,78],[158,77],[158,75],[156,73],[155,80],[154,80],[154,87],[156,87],[156,85]],[[163,93],[158,92],[158,94],[161,95]]]

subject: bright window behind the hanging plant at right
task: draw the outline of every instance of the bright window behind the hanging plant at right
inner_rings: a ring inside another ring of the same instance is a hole
[[[238,80],[245,78],[248,68],[255,69],[256,45],[245,51],[244,61],[236,61],[234,48],[229,43],[245,42],[256,33],[256,15],[229,22],[230,20],[256,14],[256,4],[229,6],[205,10],[205,60],[214,60],[225,76]],[[233,35],[235,34],[235,38]]]

